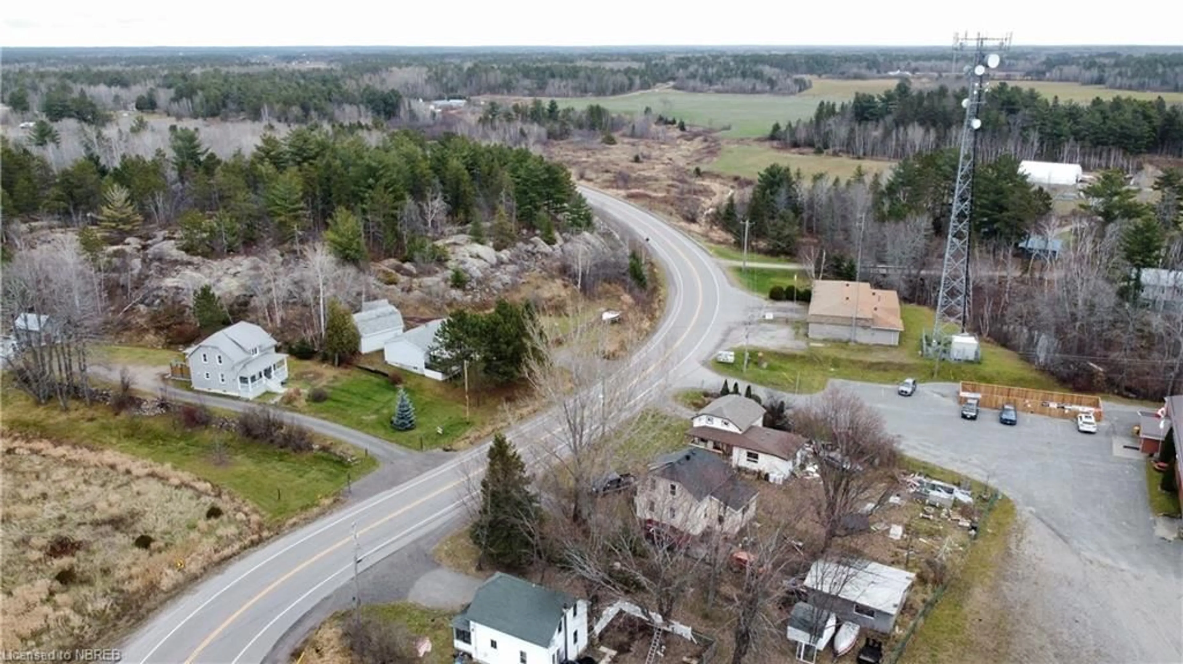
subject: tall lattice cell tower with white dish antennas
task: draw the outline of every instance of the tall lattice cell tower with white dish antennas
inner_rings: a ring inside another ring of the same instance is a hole
[[[1009,34],[1006,37],[985,37],[983,34],[970,37],[969,33],[953,36],[953,52],[958,53],[971,49],[972,54],[970,64],[965,65],[964,69],[969,82],[969,96],[962,99],[962,108],[965,109],[965,122],[962,124],[957,185],[953,188],[949,237],[945,243],[945,260],[940,271],[936,322],[932,325],[932,346],[937,353],[945,348],[945,342],[951,334],[965,331],[965,325],[969,322],[969,239],[974,198],[974,157],[977,148],[977,129],[982,127],[977,112],[984,103],[987,76],[990,70],[998,66],[998,52],[1004,51],[1009,45]]]

